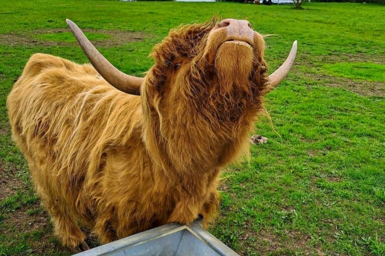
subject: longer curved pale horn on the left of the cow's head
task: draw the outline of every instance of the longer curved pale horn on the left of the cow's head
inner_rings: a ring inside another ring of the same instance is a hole
[[[115,88],[129,94],[139,95],[140,84],[144,78],[131,76],[118,70],[92,45],[74,22],[68,18],[66,21],[84,53],[100,75]]]

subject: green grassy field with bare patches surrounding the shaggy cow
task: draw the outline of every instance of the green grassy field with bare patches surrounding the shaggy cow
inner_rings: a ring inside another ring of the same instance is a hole
[[[11,139],[6,97],[28,58],[87,59],[65,18],[118,68],[141,74],[172,27],[213,14],[246,18],[270,70],[293,40],[289,77],[266,98],[249,162],[223,173],[210,231],[241,255],[385,255],[385,5],[7,0],[0,5],[0,255],[68,255]],[[96,244],[94,240],[89,240]]]

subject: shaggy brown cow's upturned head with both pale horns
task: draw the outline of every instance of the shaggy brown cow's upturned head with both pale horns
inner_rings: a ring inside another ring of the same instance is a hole
[[[222,118],[213,116],[216,113],[237,118],[246,108],[261,105],[261,96],[286,77],[297,48],[295,41],[284,64],[267,76],[263,36],[247,20],[212,19],[172,29],[155,45],[151,53],[155,64],[141,78],[116,69],[75,23],[68,19],[67,23],[91,63],[110,84],[130,94],[145,95],[147,105],[160,115],[166,114],[161,109],[167,105],[167,109],[178,105],[186,109],[185,101],[188,111],[206,111],[208,118]]]

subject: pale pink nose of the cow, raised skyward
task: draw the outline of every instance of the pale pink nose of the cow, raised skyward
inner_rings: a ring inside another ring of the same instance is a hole
[[[254,30],[251,29],[251,24],[247,20],[237,20],[227,18],[219,22],[219,27],[223,27],[227,31],[226,40],[241,40],[254,44]]]

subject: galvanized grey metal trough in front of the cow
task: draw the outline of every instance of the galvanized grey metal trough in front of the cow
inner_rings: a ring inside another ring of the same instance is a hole
[[[194,222],[190,226],[174,223],[162,225],[75,255],[236,256],[238,254],[206,231],[199,222]]]

